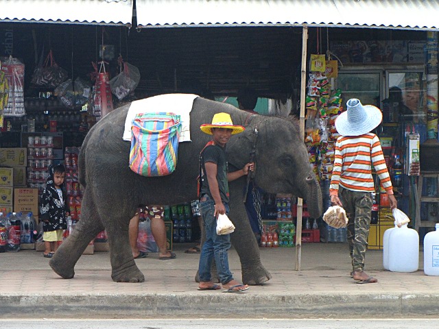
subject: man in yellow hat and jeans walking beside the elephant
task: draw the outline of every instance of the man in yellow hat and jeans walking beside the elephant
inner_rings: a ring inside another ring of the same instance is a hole
[[[200,212],[204,222],[206,241],[200,254],[198,273],[200,284],[198,290],[217,290],[221,287],[211,280],[213,258],[224,292],[239,293],[248,289],[246,284],[235,280],[228,268],[227,250],[230,248],[230,234],[218,235],[216,232],[219,214],[228,214],[228,182],[247,175],[253,164],[246,164],[243,169],[227,172],[226,143],[231,135],[244,132],[241,125],[233,125],[230,114],[217,113],[211,124],[204,124],[200,129],[212,135],[210,141],[200,154]]]

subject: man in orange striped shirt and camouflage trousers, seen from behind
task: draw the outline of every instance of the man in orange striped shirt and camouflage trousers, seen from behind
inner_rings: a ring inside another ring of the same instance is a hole
[[[364,260],[375,191],[372,165],[381,185],[388,194],[390,208],[396,208],[392,182],[385,164],[379,138],[371,131],[383,119],[379,108],[362,105],[359,99],[349,99],[347,111],[337,117],[335,128],[342,135],[335,143],[335,161],[329,186],[331,204],[346,210],[347,239],[351,252],[351,277],[357,283],[375,283],[376,278],[364,271]]]

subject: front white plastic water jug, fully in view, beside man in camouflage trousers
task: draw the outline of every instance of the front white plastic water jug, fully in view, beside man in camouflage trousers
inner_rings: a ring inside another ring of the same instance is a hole
[[[407,224],[389,234],[389,269],[392,272],[414,272],[419,268],[419,234]]]

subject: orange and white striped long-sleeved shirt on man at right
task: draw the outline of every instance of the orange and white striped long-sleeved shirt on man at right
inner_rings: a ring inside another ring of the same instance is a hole
[[[335,143],[329,195],[338,195],[339,185],[351,191],[375,191],[372,164],[385,191],[393,194],[392,182],[377,135],[368,132],[361,136],[340,136]]]

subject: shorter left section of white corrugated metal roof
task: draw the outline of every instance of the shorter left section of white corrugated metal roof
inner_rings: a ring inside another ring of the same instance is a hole
[[[0,21],[131,25],[133,0],[0,0]]]

